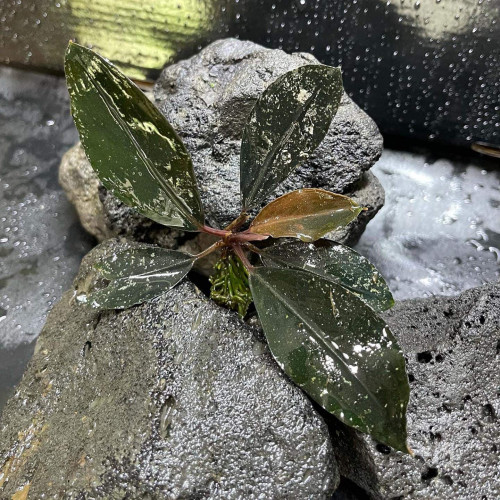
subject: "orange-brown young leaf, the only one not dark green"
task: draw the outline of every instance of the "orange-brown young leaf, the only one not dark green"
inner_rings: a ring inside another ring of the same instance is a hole
[[[349,224],[361,210],[347,196],[324,189],[298,189],[266,205],[253,220],[250,231],[273,238],[315,241]]]

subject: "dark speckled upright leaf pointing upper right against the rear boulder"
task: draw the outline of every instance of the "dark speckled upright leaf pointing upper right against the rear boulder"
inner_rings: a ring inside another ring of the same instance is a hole
[[[285,73],[262,93],[241,142],[244,209],[265,200],[319,146],[342,92],[340,68],[315,64]]]

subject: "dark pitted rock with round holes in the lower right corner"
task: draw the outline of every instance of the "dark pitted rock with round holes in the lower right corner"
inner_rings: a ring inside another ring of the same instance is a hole
[[[399,302],[384,316],[408,360],[415,456],[364,439],[383,498],[500,498],[500,284]],[[365,443],[353,443],[336,446],[341,474],[374,496],[373,480],[360,484],[360,467],[343,467],[367,455]]]

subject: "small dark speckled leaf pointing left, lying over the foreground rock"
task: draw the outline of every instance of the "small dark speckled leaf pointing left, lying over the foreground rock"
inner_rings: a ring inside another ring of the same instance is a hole
[[[174,287],[193,266],[195,258],[184,252],[144,245],[116,253],[96,264],[110,280],[86,302],[99,309],[126,309]]]

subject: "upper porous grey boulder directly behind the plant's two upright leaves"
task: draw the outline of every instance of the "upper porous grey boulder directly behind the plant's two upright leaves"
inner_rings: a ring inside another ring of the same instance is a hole
[[[239,214],[241,136],[257,98],[280,75],[305,64],[319,62],[306,53],[225,39],[163,70],[155,101],[191,152],[210,222],[223,226]],[[343,193],[381,152],[377,126],[344,93],[322,144],[268,201],[301,187]]]

